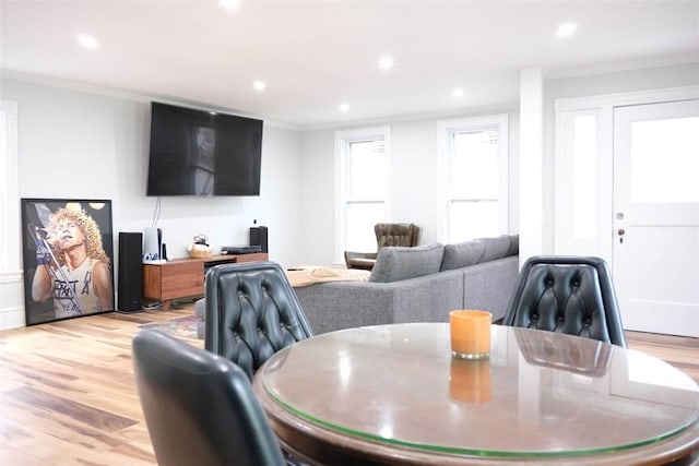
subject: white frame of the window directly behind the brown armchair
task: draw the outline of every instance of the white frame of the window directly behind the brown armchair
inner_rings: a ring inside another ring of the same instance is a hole
[[[346,225],[348,201],[350,172],[347,170],[350,144],[365,141],[383,140],[383,151],[387,156],[389,174],[386,179],[387,198],[383,200],[387,218],[390,218],[390,167],[391,167],[391,127],[364,128],[335,132],[335,262],[344,264],[346,244]],[[366,251],[369,252],[369,251]]]

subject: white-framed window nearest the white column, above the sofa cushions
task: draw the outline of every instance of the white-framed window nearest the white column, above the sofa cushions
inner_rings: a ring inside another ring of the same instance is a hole
[[[508,232],[507,115],[439,121],[437,131],[442,240]]]

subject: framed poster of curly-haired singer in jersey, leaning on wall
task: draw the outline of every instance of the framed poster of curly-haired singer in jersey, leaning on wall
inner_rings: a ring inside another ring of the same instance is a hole
[[[23,199],[26,325],[114,310],[111,201]]]

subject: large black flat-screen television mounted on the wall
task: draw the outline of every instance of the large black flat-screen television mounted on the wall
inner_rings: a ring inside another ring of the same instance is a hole
[[[260,195],[262,120],[151,103],[146,195]]]

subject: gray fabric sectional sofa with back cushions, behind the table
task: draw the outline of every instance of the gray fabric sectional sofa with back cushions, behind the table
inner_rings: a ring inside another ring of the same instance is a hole
[[[519,273],[519,236],[381,248],[368,282],[295,288],[316,334],[363,325],[448,322],[454,309],[500,320]]]

